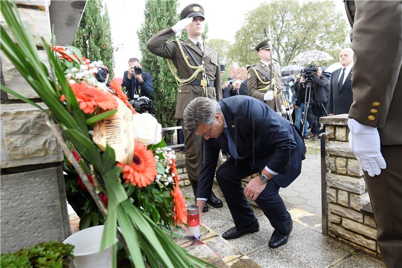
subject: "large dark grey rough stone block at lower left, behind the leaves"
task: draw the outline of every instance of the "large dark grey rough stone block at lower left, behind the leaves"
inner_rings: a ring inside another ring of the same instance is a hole
[[[70,235],[62,167],[1,178],[2,253]]]

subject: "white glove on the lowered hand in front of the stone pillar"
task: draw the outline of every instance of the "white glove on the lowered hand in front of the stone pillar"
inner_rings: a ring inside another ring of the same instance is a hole
[[[376,127],[359,123],[355,119],[348,120],[349,149],[356,155],[363,170],[370,177],[380,175],[386,163],[381,154],[380,136]]]

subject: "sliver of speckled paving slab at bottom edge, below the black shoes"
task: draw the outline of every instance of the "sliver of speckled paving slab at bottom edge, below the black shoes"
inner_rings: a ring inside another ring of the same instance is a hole
[[[264,248],[259,251],[249,254],[250,258],[255,260],[262,267],[267,268],[278,268],[278,267],[288,267],[288,268],[298,268],[298,267],[309,267],[303,262],[289,257],[279,248]]]

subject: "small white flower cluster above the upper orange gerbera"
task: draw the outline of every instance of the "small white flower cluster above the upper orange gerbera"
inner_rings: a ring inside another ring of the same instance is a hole
[[[86,60],[86,64],[81,64],[79,65],[79,70],[76,67],[72,67],[66,74],[66,78],[69,79],[69,83],[73,83],[71,81],[74,81],[72,79],[76,80],[82,80],[86,81],[88,85],[96,86],[96,74],[97,74],[97,68],[102,66],[102,61],[90,61]]]

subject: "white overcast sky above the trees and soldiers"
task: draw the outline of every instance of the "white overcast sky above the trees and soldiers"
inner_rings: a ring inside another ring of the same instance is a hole
[[[145,0],[104,0],[104,2],[109,9],[113,43],[115,46],[122,46],[115,52],[115,76],[123,77],[128,67],[128,59],[131,57],[141,59],[137,30],[143,23]],[[236,31],[243,24],[245,14],[265,2],[269,1],[179,0],[178,12],[192,3],[202,5],[209,27],[208,38],[222,38],[233,43]],[[305,0],[299,0],[299,2],[305,2]],[[334,2],[336,10],[342,12],[347,20],[342,1],[334,0]]]

